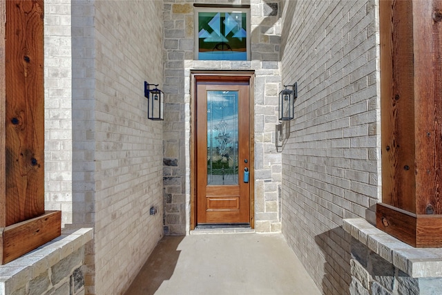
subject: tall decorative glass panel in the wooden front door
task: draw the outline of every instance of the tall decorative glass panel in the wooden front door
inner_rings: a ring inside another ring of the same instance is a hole
[[[207,91],[207,185],[238,184],[238,91]]]

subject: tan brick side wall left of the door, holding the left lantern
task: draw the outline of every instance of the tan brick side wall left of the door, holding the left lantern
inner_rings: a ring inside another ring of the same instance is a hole
[[[95,1],[95,294],[128,288],[162,237],[163,122],[144,80],[163,85],[162,1]]]

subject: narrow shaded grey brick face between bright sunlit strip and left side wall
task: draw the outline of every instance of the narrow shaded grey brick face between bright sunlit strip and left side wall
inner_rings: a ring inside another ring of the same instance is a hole
[[[72,0],[73,224],[95,224],[95,1]],[[95,245],[85,249],[86,294],[95,294]]]

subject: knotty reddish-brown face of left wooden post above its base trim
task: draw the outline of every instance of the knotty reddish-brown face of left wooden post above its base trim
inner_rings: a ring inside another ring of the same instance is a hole
[[[6,1],[6,226],[44,214],[44,7]]]

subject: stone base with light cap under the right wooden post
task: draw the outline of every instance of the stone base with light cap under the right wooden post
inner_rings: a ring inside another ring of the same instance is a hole
[[[411,247],[362,218],[343,227],[352,234],[349,294],[441,294],[442,249]]]

